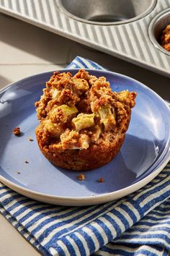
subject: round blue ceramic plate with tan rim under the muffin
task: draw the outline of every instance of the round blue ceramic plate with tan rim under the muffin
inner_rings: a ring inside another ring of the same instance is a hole
[[[77,72],[76,69],[67,71]],[[114,91],[138,93],[120,153],[107,165],[84,171],[84,181],[77,179],[76,171],[53,166],[37,146],[35,127],[38,121],[34,106],[52,72],[36,74],[9,85],[0,93],[1,182],[35,200],[60,205],[92,205],[134,192],[164,168],[170,158],[170,111],[166,103],[130,77],[99,70],[89,72],[107,77]],[[20,127],[21,137],[12,134],[14,127]],[[104,178],[103,183],[97,182],[100,177]]]

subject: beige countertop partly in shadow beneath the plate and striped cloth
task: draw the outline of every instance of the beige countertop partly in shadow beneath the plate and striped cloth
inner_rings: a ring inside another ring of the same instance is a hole
[[[0,14],[0,88],[32,74],[62,69],[78,55],[133,77],[170,100],[169,78]],[[0,255],[40,255],[1,214]]]

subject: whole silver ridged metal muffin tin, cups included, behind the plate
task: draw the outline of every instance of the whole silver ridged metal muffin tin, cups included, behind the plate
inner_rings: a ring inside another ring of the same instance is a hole
[[[0,12],[167,77],[158,37],[169,8],[170,0],[0,0]]]

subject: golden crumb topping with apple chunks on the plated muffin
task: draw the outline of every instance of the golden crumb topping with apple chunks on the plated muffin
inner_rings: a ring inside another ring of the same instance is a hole
[[[54,72],[35,103],[42,147],[84,150],[114,140],[128,129],[135,96],[128,90],[112,92],[105,77],[84,69],[74,76]]]

